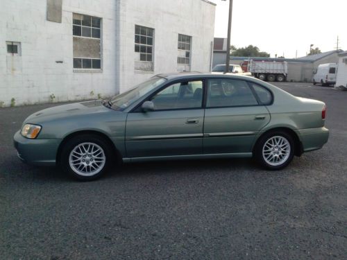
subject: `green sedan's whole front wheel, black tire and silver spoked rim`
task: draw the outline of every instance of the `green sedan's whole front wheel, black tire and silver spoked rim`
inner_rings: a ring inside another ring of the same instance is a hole
[[[76,180],[90,181],[104,175],[112,161],[112,147],[97,135],[79,135],[62,147],[60,166]]]

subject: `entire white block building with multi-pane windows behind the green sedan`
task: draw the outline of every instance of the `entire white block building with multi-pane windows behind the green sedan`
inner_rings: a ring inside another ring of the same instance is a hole
[[[0,8],[0,106],[124,92],[158,73],[210,71],[207,0],[11,0]]]

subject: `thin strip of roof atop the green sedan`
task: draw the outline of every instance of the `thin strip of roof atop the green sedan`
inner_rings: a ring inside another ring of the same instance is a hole
[[[162,73],[156,75],[160,78],[167,78],[167,80],[180,80],[189,78],[235,78],[235,79],[247,79],[253,80],[253,77],[242,75],[230,75],[230,74],[212,74],[212,73],[200,73],[200,72],[175,72],[175,73]]]

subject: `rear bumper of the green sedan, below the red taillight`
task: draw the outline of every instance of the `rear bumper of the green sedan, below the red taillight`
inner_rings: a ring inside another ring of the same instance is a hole
[[[298,136],[303,145],[303,152],[319,150],[327,143],[329,139],[329,130],[327,128],[310,128],[298,130]]]

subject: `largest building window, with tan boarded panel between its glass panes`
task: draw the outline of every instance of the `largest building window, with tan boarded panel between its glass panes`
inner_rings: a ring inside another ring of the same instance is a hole
[[[73,14],[74,69],[101,69],[101,18]]]

